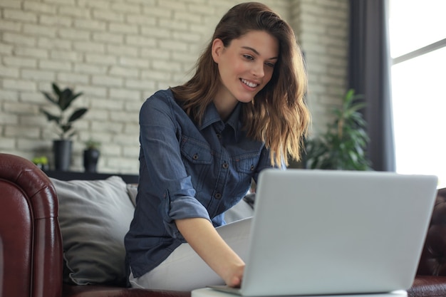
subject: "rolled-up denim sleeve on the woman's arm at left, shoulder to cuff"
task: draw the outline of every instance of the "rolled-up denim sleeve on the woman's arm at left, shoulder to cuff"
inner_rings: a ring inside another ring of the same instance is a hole
[[[209,218],[207,209],[195,198],[191,177],[185,170],[180,152],[180,127],[167,100],[156,95],[147,100],[140,110],[140,162],[147,170],[142,176],[143,192],[140,204],[159,204],[158,211],[165,229],[173,238],[182,239],[176,219]],[[142,159],[143,160],[142,160]],[[156,170],[156,174],[153,174]],[[152,172],[151,174],[149,172]],[[154,199],[159,202],[144,201]],[[148,214],[147,214],[148,215]]]

